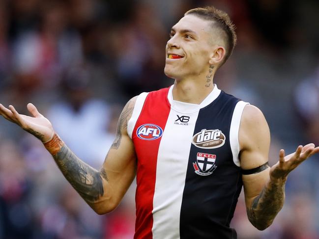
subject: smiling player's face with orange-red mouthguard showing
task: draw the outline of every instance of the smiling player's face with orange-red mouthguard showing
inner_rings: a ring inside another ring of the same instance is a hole
[[[177,80],[207,74],[214,51],[211,22],[186,15],[172,27],[166,45],[165,74]]]

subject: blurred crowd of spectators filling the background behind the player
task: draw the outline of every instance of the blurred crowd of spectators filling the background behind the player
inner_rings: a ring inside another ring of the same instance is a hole
[[[279,150],[319,144],[318,0],[0,0],[0,103],[32,102],[66,144],[99,168],[123,105],[165,77],[170,28],[193,7],[229,13],[238,45],[214,78],[261,108]],[[273,225],[250,225],[241,195],[238,239],[319,239],[319,157],[291,173]],[[95,214],[41,142],[0,119],[0,239],[132,239],[135,183],[116,211]]]

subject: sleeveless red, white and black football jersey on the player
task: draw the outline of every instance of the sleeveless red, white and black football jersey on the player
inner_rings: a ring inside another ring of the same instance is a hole
[[[216,85],[200,105],[174,101],[172,90],[139,95],[128,122],[137,154],[134,239],[235,239],[238,130],[248,103]]]

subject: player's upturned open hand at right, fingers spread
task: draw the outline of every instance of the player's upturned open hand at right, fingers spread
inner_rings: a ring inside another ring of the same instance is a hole
[[[305,146],[298,146],[296,152],[285,157],[285,151],[282,149],[279,152],[279,162],[273,165],[270,169],[270,179],[286,180],[288,174],[295,169],[300,163],[308,159],[310,156],[319,153],[319,147],[310,143]]]

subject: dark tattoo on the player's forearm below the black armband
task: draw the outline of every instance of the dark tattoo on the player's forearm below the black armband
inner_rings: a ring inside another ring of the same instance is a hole
[[[247,208],[250,222],[258,229],[263,230],[274,220],[281,210],[285,201],[285,184],[274,184],[269,182],[258,197]]]

